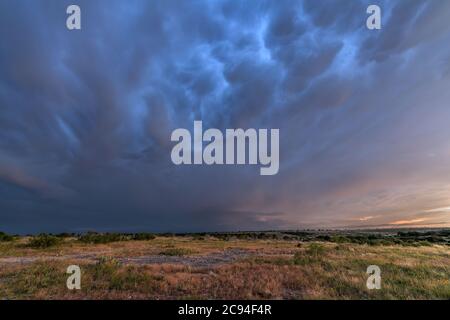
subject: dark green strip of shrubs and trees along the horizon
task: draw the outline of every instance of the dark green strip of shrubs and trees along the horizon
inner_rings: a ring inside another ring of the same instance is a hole
[[[74,238],[86,244],[105,244],[120,241],[148,241],[158,237],[190,237],[194,241],[217,239],[231,240],[280,240],[299,242],[333,242],[355,243],[366,245],[407,245],[426,246],[432,244],[450,245],[450,229],[425,231],[260,231],[260,232],[201,232],[201,233],[98,233],[82,234],[60,233],[39,234],[29,236],[27,246],[31,248],[48,248],[60,244],[64,238]],[[0,232],[0,242],[10,242],[19,239]]]

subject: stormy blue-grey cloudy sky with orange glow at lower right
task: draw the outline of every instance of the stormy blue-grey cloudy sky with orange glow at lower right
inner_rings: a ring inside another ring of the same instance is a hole
[[[435,0],[1,0],[0,230],[450,226],[449,16]],[[278,174],[174,165],[171,133],[195,120],[278,128]]]

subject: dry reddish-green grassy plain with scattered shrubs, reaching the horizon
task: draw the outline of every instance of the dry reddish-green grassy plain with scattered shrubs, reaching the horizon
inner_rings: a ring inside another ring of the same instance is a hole
[[[450,299],[450,230],[0,233],[0,299]],[[66,269],[79,265],[81,290]],[[381,289],[366,287],[369,265]]]

